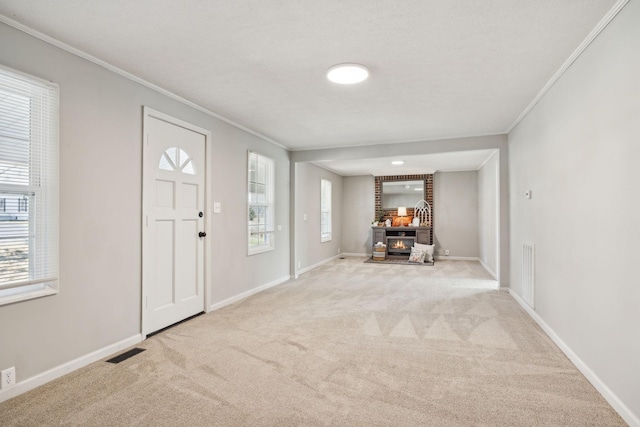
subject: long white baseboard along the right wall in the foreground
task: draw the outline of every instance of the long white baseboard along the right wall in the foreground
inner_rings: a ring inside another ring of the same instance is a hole
[[[577,354],[555,333],[553,329],[536,313],[520,296],[511,289],[505,289],[515,299],[520,306],[531,316],[531,318],[542,328],[551,340],[562,350],[569,360],[578,368],[582,375],[600,392],[602,397],[618,412],[630,427],[640,427],[640,418],[625,405],[618,396],[611,391],[607,385],[578,357]]]

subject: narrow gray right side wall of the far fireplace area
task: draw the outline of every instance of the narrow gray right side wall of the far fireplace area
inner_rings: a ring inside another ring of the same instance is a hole
[[[478,170],[478,244],[480,262],[496,279],[499,261],[499,154],[496,152]]]

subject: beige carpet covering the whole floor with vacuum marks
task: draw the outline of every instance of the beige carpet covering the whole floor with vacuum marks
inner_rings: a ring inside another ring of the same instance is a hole
[[[0,425],[626,425],[478,263],[363,261],[4,402]]]

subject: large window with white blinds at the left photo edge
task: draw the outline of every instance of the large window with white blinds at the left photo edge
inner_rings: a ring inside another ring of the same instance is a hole
[[[58,291],[58,86],[0,67],[0,304]]]

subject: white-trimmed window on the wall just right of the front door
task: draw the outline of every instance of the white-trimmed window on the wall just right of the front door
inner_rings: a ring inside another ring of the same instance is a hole
[[[274,161],[249,151],[248,156],[248,253],[273,250],[274,235]]]

